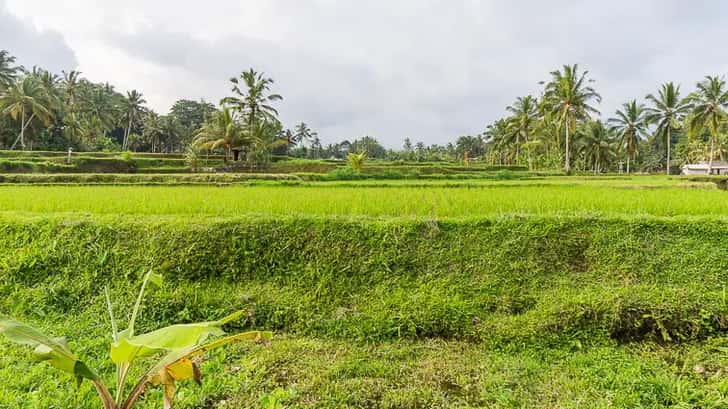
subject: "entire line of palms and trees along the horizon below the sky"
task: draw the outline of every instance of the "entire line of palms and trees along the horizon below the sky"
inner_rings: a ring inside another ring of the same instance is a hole
[[[368,157],[391,160],[596,173],[669,172],[675,164],[697,161],[712,166],[728,152],[728,87],[719,76],[705,77],[689,93],[672,82],[663,84],[602,120],[601,95],[589,72],[565,65],[541,83],[540,96],[517,98],[480,134],[445,145],[405,138],[401,149],[385,149],[370,136],[323,145],[304,122],[285,129],[276,108],[283,97],[272,92],[273,79],[250,69],[230,84],[232,95],[218,106],[183,99],[160,115],[136,90],[122,94],[78,71],[26,70],[0,50],[0,148],[218,152],[247,164],[273,155],[343,159],[366,151]]]

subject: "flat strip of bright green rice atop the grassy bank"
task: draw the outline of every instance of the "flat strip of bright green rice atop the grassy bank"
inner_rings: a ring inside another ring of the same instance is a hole
[[[95,214],[476,217],[503,214],[728,214],[716,189],[625,189],[590,184],[478,188],[365,186],[2,186],[0,211]]]

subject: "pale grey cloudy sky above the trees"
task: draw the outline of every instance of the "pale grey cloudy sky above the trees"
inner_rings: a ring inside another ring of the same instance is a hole
[[[728,73],[725,16],[722,0],[0,0],[0,49],[162,113],[255,67],[286,125],[395,147],[479,133],[566,63],[590,71],[604,115],[664,81],[692,88]]]

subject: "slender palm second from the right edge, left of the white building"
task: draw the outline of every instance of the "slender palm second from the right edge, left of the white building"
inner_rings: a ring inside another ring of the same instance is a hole
[[[689,99],[680,98],[680,86],[668,82],[662,85],[657,96],[647,95],[652,104],[646,109],[645,119],[648,123],[657,125],[656,134],[664,135],[667,142],[667,162],[665,172],[670,174],[670,145],[672,143],[672,129],[680,126],[680,121],[690,110]]]

